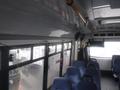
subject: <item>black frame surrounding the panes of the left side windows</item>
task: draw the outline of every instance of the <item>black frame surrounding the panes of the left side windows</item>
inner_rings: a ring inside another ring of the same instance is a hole
[[[4,54],[7,54],[7,52],[8,52],[8,55],[7,55],[7,57],[4,55],[4,56],[2,56],[2,60],[3,59],[6,59],[6,62],[4,61],[4,62],[2,62],[2,64],[3,63],[5,63],[6,65],[4,66],[5,68],[7,68],[6,70],[7,70],[7,72],[5,73],[5,77],[3,77],[4,79],[3,79],[3,81],[4,80],[6,80],[5,82],[7,83],[7,84],[5,84],[5,85],[7,85],[7,89],[5,89],[5,90],[9,90],[8,88],[9,88],[9,78],[8,78],[8,75],[9,75],[9,71],[10,70],[13,70],[13,69],[17,69],[17,68],[20,68],[20,67],[23,67],[23,66],[25,66],[25,65],[28,65],[28,64],[32,64],[32,63],[34,63],[34,62],[37,62],[37,61],[40,61],[40,60],[43,60],[44,59],[44,77],[43,77],[43,90],[44,89],[46,89],[47,88],[47,86],[46,86],[46,79],[47,79],[47,68],[48,68],[48,66],[47,66],[47,63],[48,63],[48,57],[50,57],[50,56],[52,56],[52,55],[55,55],[55,54],[61,54],[61,60],[62,60],[62,54],[63,54],[63,51],[66,51],[66,50],[63,50],[63,48],[64,48],[64,45],[63,45],[63,43],[68,43],[68,42],[51,42],[51,43],[40,43],[40,44],[26,44],[26,45],[14,45],[14,46],[9,46],[9,47],[7,47],[7,46],[4,46],[4,47],[6,47],[6,48],[9,48],[8,50],[5,50],[5,52],[4,52]],[[49,53],[48,53],[48,46],[49,46],[49,44],[54,44],[55,45],[55,53],[53,53],[53,54],[51,54],[51,55],[49,55]],[[62,45],[62,51],[61,52],[57,52],[57,44],[61,44]],[[72,43],[71,43],[72,44]],[[38,58],[38,59],[33,59],[33,47],[34,46],[42,46],[42,45],[45,45],[45,56],[44,57],[41,57],[41,58]],[[15,65],[12,65],[12,66],[9,66],[8,65],[8,62],[9,62],[9,50],[11,50],[11,49],[18,49],[18,48],[28,48],[28,47],[30,47],[31,48],[31,59],[30,60],[28,60],[28,61],[25,61],[25,62],[21,62],[21,63],[19,63],[19,64],[15,64]],[[0,48],[2,48],[2,47],[0,47]],[[71,50],[72,51],[72,48],[71,49],[67,49],[67,50]],[[4,49],[2,50],[2,52],[4,51]],[[7,62],[8,61],[8,62]],[[3,68],[2,68],[2,70],[3,70]],[[60,64],[60,72],[61,72],[61,70],[62,70],[62,68],[61,68],[61,64]],[[7,77],[7,78],[6,78]],[[5,79],[6,78],[6,79]],[[4,87],[3,87],[4,88]]]

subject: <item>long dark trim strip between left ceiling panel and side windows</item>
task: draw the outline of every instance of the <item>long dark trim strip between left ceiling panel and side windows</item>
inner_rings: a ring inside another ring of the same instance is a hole
[[[0,34],[0,40],[71,40],[72,37],[50,37],[39,35]]]

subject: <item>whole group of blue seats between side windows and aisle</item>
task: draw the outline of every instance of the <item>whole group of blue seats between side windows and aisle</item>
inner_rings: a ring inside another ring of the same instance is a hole
[[[101,90],[97,61],[75,61],[64,77],[55,78],[51,90]]]

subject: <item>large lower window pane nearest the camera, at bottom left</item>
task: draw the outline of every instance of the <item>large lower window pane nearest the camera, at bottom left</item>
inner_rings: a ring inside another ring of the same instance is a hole
[[[9,71],[9,90],[43,90],[44,60]]]

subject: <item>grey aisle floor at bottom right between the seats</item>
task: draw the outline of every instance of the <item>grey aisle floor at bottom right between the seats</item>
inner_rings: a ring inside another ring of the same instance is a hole
[[[102,76],[101,90],[119,90],[118,82],[113,77]]]

